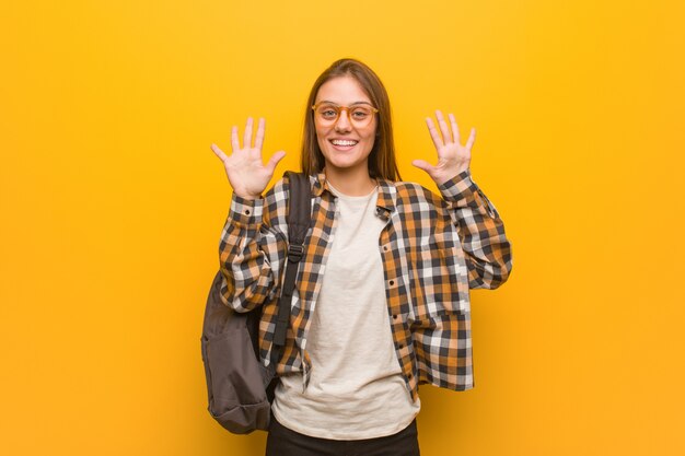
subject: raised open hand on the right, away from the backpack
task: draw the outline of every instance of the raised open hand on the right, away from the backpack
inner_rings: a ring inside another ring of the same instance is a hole
[[[436,184],[442,185],[457,174],[468,169],[468,165],[471,164],[471,149],[474,147],[474,141],[476,140],[476,129],[471,129],[466,145],[462,145],[454,115],[449,115],[452,126],[451,131],[450,126],[440,110],[436,110],[436,117],[438,118],[440,132],[438,132],[438,128],[436,128],[433,119],[430,117],[426,118],[426,124],[428,125],[428,131],[438,151],[438,164],[433,166],[423,160],[415,160],[411,164],[428,173]],[[440,137],[441,133],[442,138]]]

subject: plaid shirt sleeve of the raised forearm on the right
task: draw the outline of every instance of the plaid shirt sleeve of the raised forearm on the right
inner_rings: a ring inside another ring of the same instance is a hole
[[[512,267],[511,245],[495,206],[464,171],[438,187],[450,207],[468,268],[468,287],[496,289]]]

